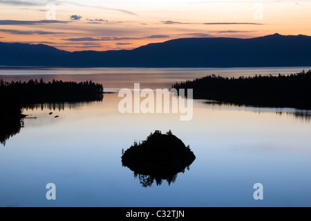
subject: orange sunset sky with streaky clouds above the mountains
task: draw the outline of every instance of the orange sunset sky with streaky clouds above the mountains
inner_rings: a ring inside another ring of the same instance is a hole
[[[0,42],[108,51],[183,37],[311,35],[310,11],[308,0],[0,0]]]

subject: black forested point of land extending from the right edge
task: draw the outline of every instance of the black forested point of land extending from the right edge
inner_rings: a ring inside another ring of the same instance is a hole
[[[175,89],[193,89],[194,98],[237,105],[311,109],[311,71],[288,76],[224,78],[205,76],[176,83]],[[187,92],[187,90],[185,90]]]

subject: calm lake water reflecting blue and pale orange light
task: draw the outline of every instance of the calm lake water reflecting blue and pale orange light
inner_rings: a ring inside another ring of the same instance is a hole
[[[134,82],[157,89],[210,73],[302,69],[310,67],[1,69],[0,79],[93,80],[118,91]],[[311,112],[194,100],[193,118],[180,121],[180,114],[121,114],[120,100],[104,94],[102,102],[25,108],[37,118],[24,119],[20,132],[0,144],[0,206],[311,206]],[[122,149],[155,130],[171,130],[196,159],[170,185],[144,188],[122,167]],[[56,185],[56,200],[46,200],[48,183]],[[263,184],[263,200],[254,200],[256,183]]]

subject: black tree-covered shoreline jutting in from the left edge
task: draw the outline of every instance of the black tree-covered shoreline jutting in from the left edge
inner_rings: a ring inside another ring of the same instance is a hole
[[[0,80],[0,143],[19,133],[25,115],[23,107],[37,103],[101,101],[103,86],[94,82],[63,82]]]

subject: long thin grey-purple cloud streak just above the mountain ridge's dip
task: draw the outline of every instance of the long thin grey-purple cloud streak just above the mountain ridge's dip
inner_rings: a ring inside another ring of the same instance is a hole
[[[167,38],[169,35],[150,35],[146,37],[77,37],[64,39],[69,42],[97,42],[97,41],[122,41],[122,40],[138,40],[138,39],[156,39]]]

